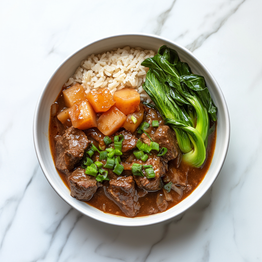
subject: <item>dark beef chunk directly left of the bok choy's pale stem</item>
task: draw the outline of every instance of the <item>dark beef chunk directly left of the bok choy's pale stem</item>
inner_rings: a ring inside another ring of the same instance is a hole
[[[168,125],[159,126],[152,137],[152,140],[158,143],[160,148],[166,147],[168,149],[163,157],[167,161],[175,159],[178,154],[180,154],[175,132]]]

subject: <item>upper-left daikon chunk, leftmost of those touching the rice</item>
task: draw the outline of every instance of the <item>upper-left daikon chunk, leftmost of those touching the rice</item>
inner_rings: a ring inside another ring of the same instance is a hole
[[[72,107],[80,101],[87,99],[84,87],[79,84],[75,84],[73,87],[63,90],[63,97],[67,107]]]

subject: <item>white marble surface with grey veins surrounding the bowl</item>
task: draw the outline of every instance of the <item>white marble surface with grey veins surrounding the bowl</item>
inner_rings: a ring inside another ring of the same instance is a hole
[[[262,261],[261,10],[261,0],[1,1],[0,261]],[[64,203],[32,139],[37,98],[58,64],[124,32],[187,47],[218,81],[231,117],[211,190],[181,216],[143,228],[106,225]]]

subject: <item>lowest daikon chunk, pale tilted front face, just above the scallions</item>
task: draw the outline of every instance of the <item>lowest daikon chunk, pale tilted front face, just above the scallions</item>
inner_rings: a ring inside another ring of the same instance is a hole
[[[126,116],[115,106],[100,116],[97,120],[97,128],[105,135],[111,136],[123,125]]]

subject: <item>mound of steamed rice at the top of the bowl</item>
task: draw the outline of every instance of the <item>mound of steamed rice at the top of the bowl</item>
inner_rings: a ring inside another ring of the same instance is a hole
[[[90,90],[107,87],[112,95],[124,87],[134,88],[140,94],[140,99],[151,102],[142,84],[146,81],[147,67],[141,65],[146,58],[152,58],[155,52],[143,50],[140,47],[113,49],[99,55],[92,54],[81,62],[66,86],[81,84],[86,93]]]

